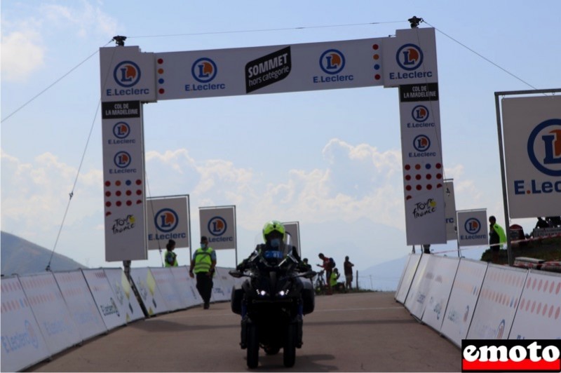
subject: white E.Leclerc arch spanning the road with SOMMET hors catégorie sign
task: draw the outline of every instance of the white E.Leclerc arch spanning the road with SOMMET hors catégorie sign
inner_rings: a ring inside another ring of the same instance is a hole
[[[100,48],[107,262],[147,259],[142,103],[371,86],[399,89],[407,245],[447,242],[435,29],[169,53],[123,37]]]

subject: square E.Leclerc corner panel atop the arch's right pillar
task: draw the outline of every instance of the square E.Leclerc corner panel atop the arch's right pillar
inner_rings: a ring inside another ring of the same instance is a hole
[[[384,88],[438,81],[433,28],[398,29],[383,39]],[[418,92],[425,101],[430,95]]]

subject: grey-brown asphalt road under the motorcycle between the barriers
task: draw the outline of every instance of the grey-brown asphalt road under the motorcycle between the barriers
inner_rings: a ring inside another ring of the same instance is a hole
[[[460,372],[457,346],[393,299],[393,292],[316,297],[296,364],[259,353],[258,372]],[[139,320],[60,353],[31,372],[245,372],[240,316],[229,303]]]

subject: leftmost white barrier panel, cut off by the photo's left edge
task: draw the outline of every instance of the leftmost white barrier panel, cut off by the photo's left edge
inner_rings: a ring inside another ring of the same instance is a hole
[[[17,277],[1,280],[1,370],[18,372],[49,357],[47,344]]]

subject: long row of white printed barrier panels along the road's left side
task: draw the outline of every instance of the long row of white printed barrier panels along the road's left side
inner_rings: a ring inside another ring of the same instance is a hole
[[[212,301],[236,283],[217,268]],[[200,306],[189,267],[83,269],[1,278],[2,372],[18,372],[131,321]],[[137,290],[135,292],[134,290]]]

